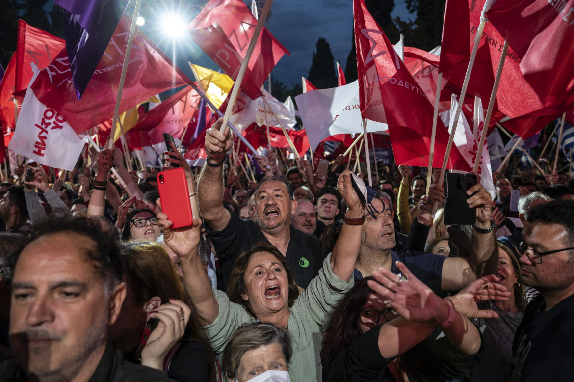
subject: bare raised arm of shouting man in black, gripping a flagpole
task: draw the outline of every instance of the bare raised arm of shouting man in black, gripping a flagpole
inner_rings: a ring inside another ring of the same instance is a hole
[[[226,126],[225,134],[219,132],[223,119],[219,118],[205,132],[205,165],[201,169],[197,183],[199,209],[205,222],[214,231],[225,228],[231,214],[222,205],[223,198],[223,160],[225,153],[233,146],[233,138]]]

